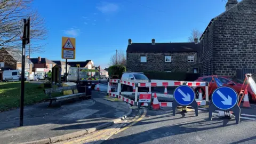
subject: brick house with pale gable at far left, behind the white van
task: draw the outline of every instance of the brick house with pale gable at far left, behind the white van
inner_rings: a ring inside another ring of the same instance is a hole
[[[16,49],[0,49],[0,68],[21,70],[22,52]],[[33,63],[25,57],[25,71],[32,73]]]

